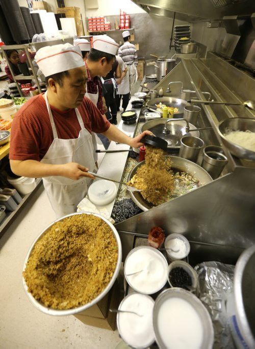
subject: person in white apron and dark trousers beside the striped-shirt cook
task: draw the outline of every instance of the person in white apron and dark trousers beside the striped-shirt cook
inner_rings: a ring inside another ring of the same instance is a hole
[[[121,70],[121,77],[116,80],[118,85],[117,94],[115,97],[117,111],[119,111],[120,100],[122,97],[122,108],[123,111],[126,110],[127,105],[129,104],[129,95],[130,95],[130,87],[129,87],[129,74],[127,74],[127,66],[124,63],[123,59],[120,56],[116,56],[116,60],[119,63]]]

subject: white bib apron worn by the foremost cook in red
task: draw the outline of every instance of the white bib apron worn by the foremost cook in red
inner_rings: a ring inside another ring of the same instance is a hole
[[[45,164],[77,162],[93,171],[95,162],[93,160],[92,137],[84,127],[79,110],[75,108],[75,113],[81,126],[78,138],[60,139],[58,138],[52,111],[49,107],[47,92],[45,93],[45,102],[50,123],[52,124],[54,140],[41,162]],[[84,177],[77,181],[61,176],[43,178],[44,188],[57,218],[77,211],[77,205],[87,194],[90,181],[89,178]]]

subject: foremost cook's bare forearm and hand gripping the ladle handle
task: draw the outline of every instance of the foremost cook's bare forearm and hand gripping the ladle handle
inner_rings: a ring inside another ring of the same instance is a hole
[[[94,178],[87,173],[88,168],[75,163],[63,165],[44,164],[36,160],[10,160],[11,170],[17,176],[30,178],[42,178],[50,176],[63,176],[72,180],[78,180],[82,177]],[[92,170],[92,169],[90,169]]]

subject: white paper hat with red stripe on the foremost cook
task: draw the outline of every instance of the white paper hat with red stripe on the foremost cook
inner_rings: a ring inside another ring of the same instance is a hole
[[[69,43],[38,49],[35,61],[45,77],[84,66],[80,47]]]

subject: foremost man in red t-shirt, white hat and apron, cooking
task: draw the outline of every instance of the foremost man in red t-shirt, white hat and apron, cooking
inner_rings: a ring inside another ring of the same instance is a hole
[[[47,91],[30,98],[15,114],[11,169],[18,176],[43,178],[57,218],[77,210],[95,170],[91,132],[139,147],[144,134],[130,138],[101,117],[86,97],[87,71],[78,46],[40,48],[35,60]]]

